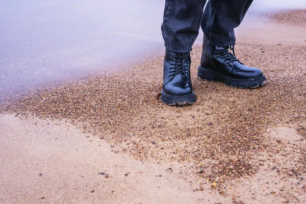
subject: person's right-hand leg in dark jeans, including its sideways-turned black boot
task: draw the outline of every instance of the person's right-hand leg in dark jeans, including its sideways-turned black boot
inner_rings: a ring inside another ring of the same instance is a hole
[[[252,0],[209,1],[201,20],[204,36],[199,78],[220,80],[239,88],[257,88],[266,84],[263,72],[242,64],[234,52],[234,28],[241,23],[251,3]]]

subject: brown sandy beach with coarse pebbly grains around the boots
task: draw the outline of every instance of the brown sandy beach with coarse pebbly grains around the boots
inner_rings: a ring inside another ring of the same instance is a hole
[[[197,79],[162,103],[163,56],[31,91],[1,108],[1,203],[306,202],[306,11],[237,32],[259,89]]]

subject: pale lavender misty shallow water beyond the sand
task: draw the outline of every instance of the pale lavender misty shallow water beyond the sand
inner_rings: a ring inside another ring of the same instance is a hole
[[[163,0],[0,0],[0,101],[161,50],[163,7]],[[306,1],[255,0],[249,13],[301,8]]]

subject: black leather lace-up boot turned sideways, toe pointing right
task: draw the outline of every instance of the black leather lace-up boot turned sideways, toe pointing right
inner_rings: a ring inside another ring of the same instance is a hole
[[[233,54],[228,49],[233,50]],[[207,81],[220,80],[226,85],[245,89],[258,88],[267,83],[260,69],[245,66],[236,58],[234,45],[211,45],[206,36],[203,38],[198,77]]]

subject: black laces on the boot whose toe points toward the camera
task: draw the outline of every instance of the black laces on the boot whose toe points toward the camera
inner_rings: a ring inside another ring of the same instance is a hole
[[[186,60],[189,58],[189,53],[176,53],[170,55],[169,77],[183,73],[189,80],[189,63]]]

